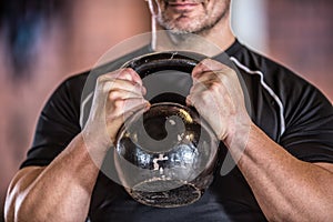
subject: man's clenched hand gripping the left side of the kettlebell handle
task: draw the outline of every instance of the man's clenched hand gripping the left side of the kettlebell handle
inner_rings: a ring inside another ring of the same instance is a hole
[[[132,69],[100,75],[90,115],[82,131],[87,145],[108,150],[124,120],[135,111],[149,108],[144,94],[142,80]]]

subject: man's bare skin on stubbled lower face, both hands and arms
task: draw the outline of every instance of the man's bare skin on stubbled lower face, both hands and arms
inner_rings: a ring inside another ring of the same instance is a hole
[[[235,39],[229,3],[150,0],[153,34],[165,28],[175,33],[195,32],[225,50]],[[159,40],[153,41],[159,49]],[[204,60],[192,77],[188,104],[199,110],[238,160],[268,220],[333,221],[333,165],[302,162],[262,132],[246,113],[233,70]],[[22,169],[12,180],[6,201],[7,221],[84,221],[99,167],[115,133],[130,113],[150,105],[133,70],[101,75],[97,85],[83,131],[51,164]]]

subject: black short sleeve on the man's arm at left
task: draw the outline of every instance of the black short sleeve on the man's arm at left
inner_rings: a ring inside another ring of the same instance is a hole
[[[63,81],[42,109],[32,147],[21,168],[48,165],[81,131],[79,124],[82,78]]]

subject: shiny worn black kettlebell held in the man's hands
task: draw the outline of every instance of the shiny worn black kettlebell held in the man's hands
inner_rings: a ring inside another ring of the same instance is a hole
[[[191,73],[198,61],[188,52],[176,57],[164,52],[137,58],[125,65],[147,77],[168,69]],[[174,208],[193,203],[213,180],[219,140],[183,101],[170,94],[154,98],[148,111],[130,117],[118,133],[117,172],[128,193],[143,204]]]

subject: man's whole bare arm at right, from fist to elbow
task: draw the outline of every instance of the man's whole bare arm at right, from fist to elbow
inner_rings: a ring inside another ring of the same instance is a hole
[[[196,108],[224,142],[268,220],[333,221],[333,164],[302,161],[259,129],[230,68],[204,60],[192,78],[188,104]]]

